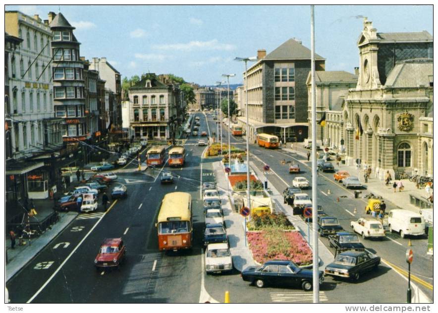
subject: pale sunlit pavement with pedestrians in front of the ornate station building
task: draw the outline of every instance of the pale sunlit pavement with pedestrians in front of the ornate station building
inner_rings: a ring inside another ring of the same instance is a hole
[[[293,154],[296,153],[298,156],[303,157],[303,159],[300,160],[301,163],[311,166],[311,162],[307,161],[306,152],[303,151],[303,149],[304,148],[302,147],[302,144],[298,143],[297,151],[295,151],[295,149],[290,149],[290,148],[283,148],[282,150],[288,151]],[[350,175],[357,176],[356,166],[347,166],[345,164],[339,164],[339,166],[335,165],[335,170],[338,169],[346,170],[350,173]],[[402,192],[399,192],[397,189],[397,192],[394,193],[394,190],[392,188],[392,184],[394,183],[394,180],[392,180],[389,183],[389,185],[386,186],[383,180],[373,177],[375,172],[372,172],[371,173],[372,177],[368,179],[367,183],[365,183],[363,168],[360,170],[359,174],[360,174],[359,180],[367,186],[367,190],[362,190],[362,194],[361,194],[362,197],[368,193],[373,193],[377,196],[381,196],[386,202],[392,203],[395,207],[398,207],[400,209],[409,209],[414,212],[419,212],[420,208],[410,204],[409,195],[412,194],[414,196],[423,197],[423,198],[428,197],[425,189],[417,189],[416,184],[414,182],[410,182],[409,179],[402,179],[401,181],[403,183],[404,190]]]

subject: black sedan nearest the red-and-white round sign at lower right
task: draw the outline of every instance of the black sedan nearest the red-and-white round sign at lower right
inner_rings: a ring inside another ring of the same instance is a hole
[[[326,275],[359,280],[361,275],[370,270],[376,270],[380,264],[380,257],[365,251],[345,251],[335,257],[335,260],[326,266]]]

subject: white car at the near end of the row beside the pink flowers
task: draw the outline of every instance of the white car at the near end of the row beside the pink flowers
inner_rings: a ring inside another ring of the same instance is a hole
[[[209,244],[205,250],[205,270],[209,273],[231,271],[233,260],[226,243]]]

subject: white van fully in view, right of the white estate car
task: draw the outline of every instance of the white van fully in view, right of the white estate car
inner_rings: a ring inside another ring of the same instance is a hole
[[[404,209],[393,209],[389,212],[388,229],[390,232],[399,232],[401,238],[405,235],[424,235],[424,228],[424,217],[418,213]]]

